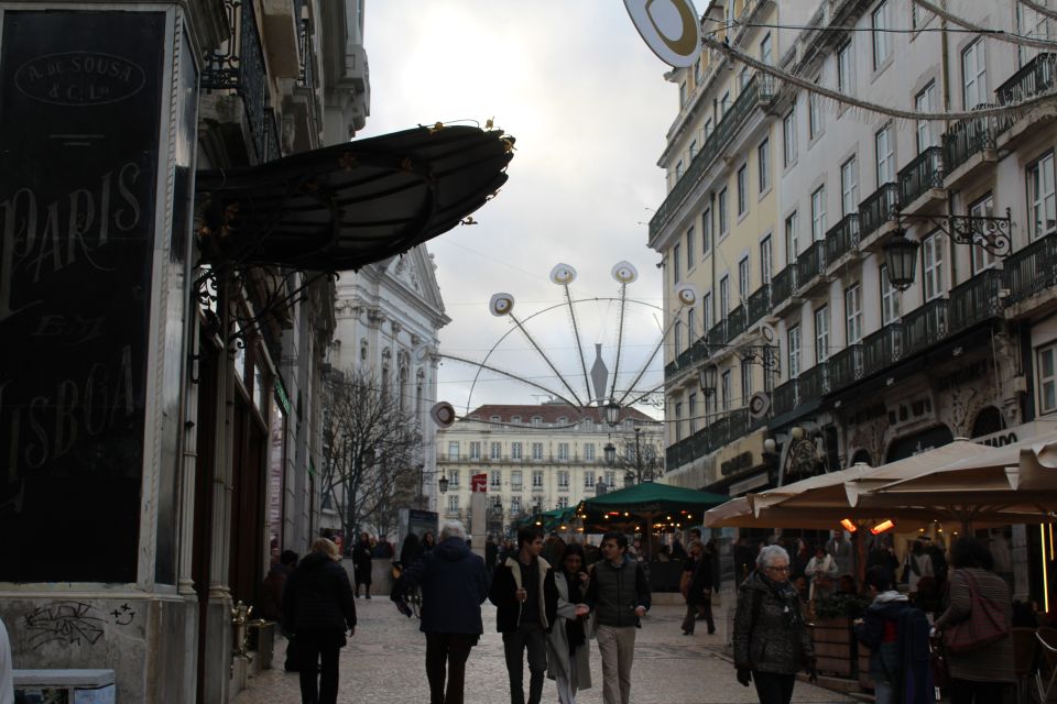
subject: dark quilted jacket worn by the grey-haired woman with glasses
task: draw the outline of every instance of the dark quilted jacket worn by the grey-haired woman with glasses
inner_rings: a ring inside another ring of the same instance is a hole
[[[795,674],[815,660],[811,636],[793,585],[772,585],[752,572],[738,587],[734,667]]]

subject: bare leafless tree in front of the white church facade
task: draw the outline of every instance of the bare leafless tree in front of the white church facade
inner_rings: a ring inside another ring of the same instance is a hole
[[[331,374],[325,393],[323,495],[340,512],[347,541],[364,526],[389,532],[417,486],[417,422],[363,370]]]

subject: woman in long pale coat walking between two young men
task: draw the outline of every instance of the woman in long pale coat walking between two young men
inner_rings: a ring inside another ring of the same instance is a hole
[[[557,683],[562,704],[576,704],[576,692],[591,688],[584,548],[575,542],[565,547],[554,583],[558,587],[558,617],[547,635],[547,676]]]

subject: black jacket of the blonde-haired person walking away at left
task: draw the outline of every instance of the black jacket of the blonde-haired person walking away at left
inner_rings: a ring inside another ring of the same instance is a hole
[[[286,630],[344,634],[356,626],[356,598],[345,568],[320,552],[306,556],[283,590]]]

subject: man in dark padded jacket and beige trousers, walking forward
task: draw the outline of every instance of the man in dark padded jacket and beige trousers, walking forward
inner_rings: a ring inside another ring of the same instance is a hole
[[[602,536],[602,559],[595,563],[584,602],[595,612],[598,652],[602,657],[602,700],[631,701],[635,628],[650,609],[650,583],[642,563],[628,557],[628,536]]]

